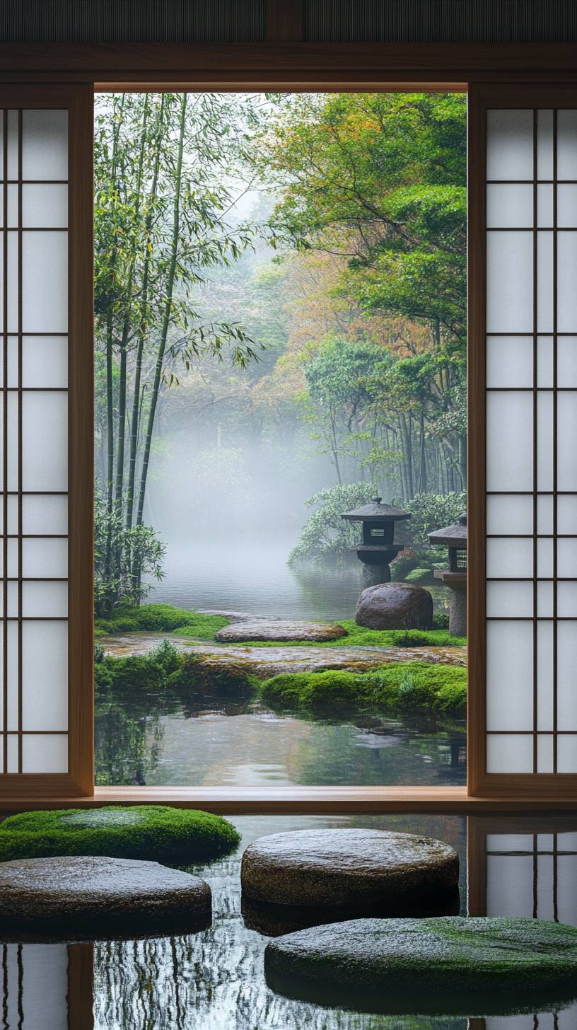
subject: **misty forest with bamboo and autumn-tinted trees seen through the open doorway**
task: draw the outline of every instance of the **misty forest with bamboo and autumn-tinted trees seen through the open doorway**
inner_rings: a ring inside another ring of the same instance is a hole
[[[100,96],[95,167],[97,614],[167,541],[339,559],[375,493],[427,563],[465,504],[465,97]]]

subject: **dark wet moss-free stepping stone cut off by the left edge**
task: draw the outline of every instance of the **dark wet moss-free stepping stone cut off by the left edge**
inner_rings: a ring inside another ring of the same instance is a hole
[[[158,862],[74,855],[0,863],[0,935],[114,936],[210,925],[208,884]]]

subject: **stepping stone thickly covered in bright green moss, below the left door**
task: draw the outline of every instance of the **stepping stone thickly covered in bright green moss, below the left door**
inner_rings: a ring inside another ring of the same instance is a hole
[[[226,855],[239,840],[222,816],[162,804],[22,812],[0,823],[0,862],[109,855],[184,865]]]

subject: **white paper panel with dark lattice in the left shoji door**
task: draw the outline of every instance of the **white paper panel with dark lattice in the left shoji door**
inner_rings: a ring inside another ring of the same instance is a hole
[[[0,112],[0,772],[68,772],[68,111]]]

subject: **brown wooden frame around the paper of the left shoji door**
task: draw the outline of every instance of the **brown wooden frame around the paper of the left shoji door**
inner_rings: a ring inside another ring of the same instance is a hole
[[[2,83],[0,108],[68,110],[68,772],[0,777],[2,802],[94,790],[93,619],[93,217],[91,85]],[[7,327],[3,334],[7,338]],[[42,656],[38,655],[41,662]],[[6,667],[4,668],[6,674]],[[7,677],[4,675],[4,712]],[[22,679],[19,682],[22,713]],[[20,717],[19,717],[20,718]],[[7,723],[4,724],[7,728]],[[22,740],[22,721],[19,727]],[[19,747],[19,751],[20,751]]]

